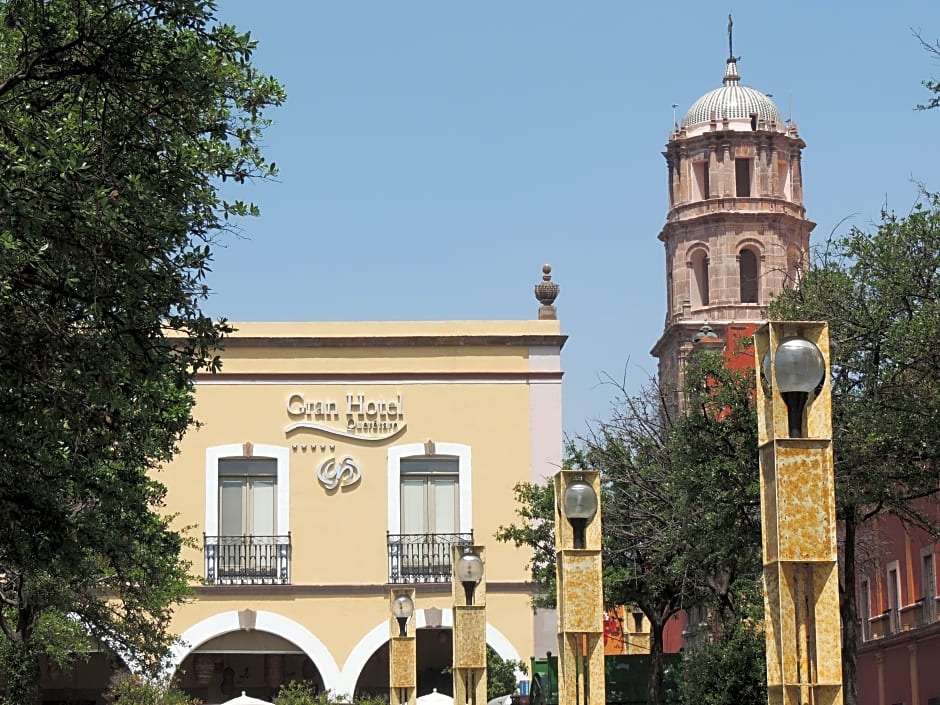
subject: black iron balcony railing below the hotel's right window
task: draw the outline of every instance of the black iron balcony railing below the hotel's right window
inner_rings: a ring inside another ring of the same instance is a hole
[[[450,552],[470,545],[469,534],[389,534],[388,582],[449,583],[453,574]]]

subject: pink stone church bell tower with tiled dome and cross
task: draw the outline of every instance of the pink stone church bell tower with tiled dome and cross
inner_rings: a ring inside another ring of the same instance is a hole
[[[806,145],[769,96],[741,85],[731,46],[729,17],[722,86],[695,101],[663,153],[666,321],[652,354],[673,408],[693,347],[711,340],[730,350],[763,322],[796,280],[815,226],[803,206]]]

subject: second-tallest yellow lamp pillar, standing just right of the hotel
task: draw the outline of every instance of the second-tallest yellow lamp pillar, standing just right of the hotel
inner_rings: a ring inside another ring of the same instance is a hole
[[[600,475],[561,470],[554,481],[558,703],[604,705]],[[591,491],[596,510],[582,511]]]

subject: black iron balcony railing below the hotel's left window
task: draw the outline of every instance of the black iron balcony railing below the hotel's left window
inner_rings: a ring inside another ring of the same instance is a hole
[[[289,585],[290,534],[206,536],[206,582],[210,585]]]

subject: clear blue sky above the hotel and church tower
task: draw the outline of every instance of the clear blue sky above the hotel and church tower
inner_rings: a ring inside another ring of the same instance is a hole
[[[744,85],[806,142],[813,241],[940,191],[937,0],[219,0],[285,86],[275,181],[217,249],[206,311],[231,321],[531,319],[561,286],[564,427],[636,391],[665,321],[662,157],[674,114]],[[674,109],[673,105],[677,105]]]

